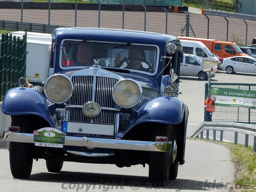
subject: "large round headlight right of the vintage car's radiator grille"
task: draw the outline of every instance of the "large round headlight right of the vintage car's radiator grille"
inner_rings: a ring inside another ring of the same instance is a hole
[[[134,107],[140,102],[141,96],[141,85],[132,79],[124,79],[114,85],[114,101],[122,108]]]

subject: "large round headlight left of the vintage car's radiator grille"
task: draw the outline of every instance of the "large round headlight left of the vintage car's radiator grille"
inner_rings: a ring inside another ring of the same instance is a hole
[[[70,99],[72,93],[73,84],[65,75],[53,75],[44,83],[44,94],[53,103],[65,103]]]

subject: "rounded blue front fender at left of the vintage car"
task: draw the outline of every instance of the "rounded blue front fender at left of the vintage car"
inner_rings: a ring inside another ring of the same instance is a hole
[[[46,98],[31,88],[10,89],[4,97],[2,112],[6,115],[37,115],[55,127]]]

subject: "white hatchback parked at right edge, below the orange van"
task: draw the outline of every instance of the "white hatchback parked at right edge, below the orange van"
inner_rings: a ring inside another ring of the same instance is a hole
[[[223,60],[222,69],[231,74],[234,72],[255,73],[256,58],[251,56],[233,56]]]

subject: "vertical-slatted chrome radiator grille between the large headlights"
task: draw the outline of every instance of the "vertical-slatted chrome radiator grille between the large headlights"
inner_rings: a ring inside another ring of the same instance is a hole
[[[84,105],[88,101],[94,101],[105,108],[118,108],[112,97],[112,89],[118,79],[98,76],[74,76],[73,96],[68,105]],[[67,109],[67,120],[83,123],[115,124],[118,114],[115,111],[101,110],[95,119],[85,117],[82,109]]]

